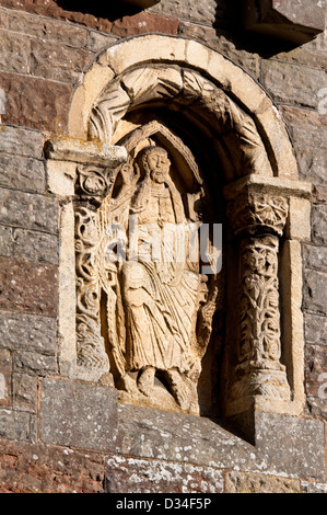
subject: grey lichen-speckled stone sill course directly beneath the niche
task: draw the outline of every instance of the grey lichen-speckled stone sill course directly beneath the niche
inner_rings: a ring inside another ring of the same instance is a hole
[[[114,388],[49,377],[43,379],[39,421],[47,445],[325,482],[318,420],[257,411],[252,445],[220,421],[122,404]]]

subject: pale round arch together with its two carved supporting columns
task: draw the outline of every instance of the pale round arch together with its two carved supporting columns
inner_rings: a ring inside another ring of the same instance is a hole
[[[77,195],[74,210],[85,233],[96,233],[94,213],[124,161],[119,145],[128,142],[129,133],[140,128],[125,126],[126,116],[149,105],[183,112],[205,137],[211,133],[213,154],[223,171],[223,197],[233,240],[229,256],[233,262],[233,313],[226,331],[230,348],[223,370],[224,414],[243,416],[256,407],[299,413],[304,402],[300,242],[310,238],[311,190],[297,180],[292,145],[279,112],[242,68],[198,42],[145,35],[101,52],[74,92],[68,121],[71,139],[52,140],[47,147],[52,161],[83,163],[71,173],[71,187]],[[164,133],[162,126],[161,134],[172,142],[173,133]],[[182,156],[187,160],[187,150]],[[57,173],[58,167],[54,171]],[[66,204],[65,211],[68,209]],[[78,243],[83,248],[81,239]],[[79,291],[77,295],[82,300],[92,298],[92,309],[83,306],[84,321],[90,323],[83,322],[82,337],[95,348],[102,335],[92,252],[85,263],[91,270],[90,284],[80,282],[83,289],[80,297]],[[82,260],[79,253],[78,261]],[[69,333],[65,318],[61,329]],[[98,364],[103,359],[92,357]],[[81,371],[75,341],[61,345],[61,363],[62,368],[72,370],[69,374],[90,380],[101,378],[106,370],[100,365],[97,373],[92,367],[86,374]]]

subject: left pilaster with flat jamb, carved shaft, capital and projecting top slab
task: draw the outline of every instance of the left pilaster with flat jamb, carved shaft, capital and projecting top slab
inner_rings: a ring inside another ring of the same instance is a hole
[[[65,297],[63,293],[60,297],[60,370],[96,381],[109,373],[101,333],[98,209],[127,152],[122,147],[101,141],[58,137],[46,142],[45,156],[49,187],[60,205],[60,224],[65,220],[60,229],[61,289],[65,291]],[[69,312],[69,317],[66,318],[63,311]]]

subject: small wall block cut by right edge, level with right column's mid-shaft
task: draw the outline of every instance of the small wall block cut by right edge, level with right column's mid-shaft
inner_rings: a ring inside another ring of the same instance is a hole
[[[303,306],[310,311],[327,314],[326,305],[327,273],[307,270],[304,274]]]

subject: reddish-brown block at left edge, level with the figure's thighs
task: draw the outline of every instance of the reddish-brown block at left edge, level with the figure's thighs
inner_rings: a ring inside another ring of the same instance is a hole
[[[0,309],[57,313],[57,266],[1,258],[0,284]]]

